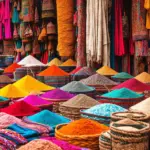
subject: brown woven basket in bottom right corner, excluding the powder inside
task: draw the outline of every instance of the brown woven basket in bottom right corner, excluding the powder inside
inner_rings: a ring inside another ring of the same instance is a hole
[[[140,125],[130,125],[136,127],[138,131],[125,131],[118,129],[116,123],[111,123],[112,150],[149,150],[150,132],[149,124],[140,122]],[[129,125],[120,125],[129,126]]]

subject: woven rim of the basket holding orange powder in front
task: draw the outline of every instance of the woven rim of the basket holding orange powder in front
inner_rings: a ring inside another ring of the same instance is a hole
[[[99,133],[99,134],[94,134],[94,135],[64,135],[64,134],[62,134],[61,132],[58,131],[58,128],[62,127],[62,126],[65,126],[65,125],[67,125],[67,123],[57,125],[56,128],[55,128],[55,135],[59,134],[62,137],[68,137],[68,138],[90,138],[90,137],[94,138],[94,137],[99,137],[100,134],[101,134],[101,133]]]

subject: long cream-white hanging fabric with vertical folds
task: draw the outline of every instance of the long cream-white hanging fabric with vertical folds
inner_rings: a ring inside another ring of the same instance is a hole
[[[110,65],[108,0],[87,0],[86,54],[88,66],[94,62]]]

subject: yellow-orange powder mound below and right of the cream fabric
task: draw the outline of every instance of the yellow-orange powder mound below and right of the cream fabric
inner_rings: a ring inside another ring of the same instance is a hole
[[[98,69],[96,72],[104,76],[113,76],[118,73],[108,66],[103,66],[102,68]]]

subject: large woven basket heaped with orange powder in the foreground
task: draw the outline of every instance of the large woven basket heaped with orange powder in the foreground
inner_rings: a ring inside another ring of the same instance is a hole
[[[109,128],[103,124],[90,119],[79,119],[69,124],[61,124],[56,127],[55,137],[70,144],[99,149],[99,136]]]

